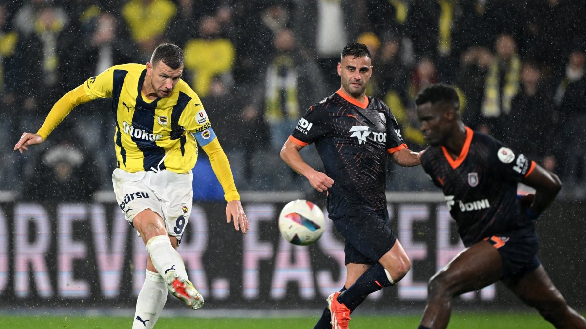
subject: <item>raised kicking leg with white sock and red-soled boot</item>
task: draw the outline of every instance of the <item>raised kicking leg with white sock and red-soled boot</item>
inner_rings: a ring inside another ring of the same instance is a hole
[[[173,239],[176,245],[176,238],[169,238],[163,219],[154,211],[145,209],[134,217],[132,224],[147,245],[156,272],[165,277],[169,292],[192,309],[202,307],[203,298],[188,280],[183,259],[171,244]]]

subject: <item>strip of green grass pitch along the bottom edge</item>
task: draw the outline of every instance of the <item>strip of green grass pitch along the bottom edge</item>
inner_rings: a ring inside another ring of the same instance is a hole
[[[164,313],[163,313],[164,316]],[[352,329],[377,328],[417,328],[421,316],[361,316],[356,315],[350,321]],[[162,317],[155,328],[210,328],[210,329],[271,329],[271,328],[313,328],[317,317],[271,317],[271,318],[196,318]],[[130,317],[78,317],[78,316],[0,316],[0,328],[84,328],[84,329],[112,329],[130,328]],[[551,329],[553,326],[539,315],[515,313],[479,313],[479,314],[452,314],[449,329]]]

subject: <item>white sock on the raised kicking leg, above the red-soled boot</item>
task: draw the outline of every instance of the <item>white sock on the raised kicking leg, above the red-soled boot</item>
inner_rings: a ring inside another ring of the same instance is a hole
[[[171,245],[171,240],[166,235],[157,235],[147,242],[147,250],[151,256],[152,265],[161,277],[165,277],[166,270],[174,269],[183,279],[188,280],[183,259]]]

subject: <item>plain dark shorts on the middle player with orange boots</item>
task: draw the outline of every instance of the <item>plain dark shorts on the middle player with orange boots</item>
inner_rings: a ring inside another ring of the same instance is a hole
[[[386,208],[364,210],[360,214],[333,221],[338,232],[346,239],[344,263],[377,263],[397,241],[389,223]]]

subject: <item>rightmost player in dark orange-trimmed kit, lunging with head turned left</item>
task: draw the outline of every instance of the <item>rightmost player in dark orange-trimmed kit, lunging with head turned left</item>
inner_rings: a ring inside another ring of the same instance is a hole
[[[421,165],[444,191],[466,246],[431,278],[419,329],[446,328],[452,298],[498,280],[556,328],[586,328],[536,257],[539,239],[533,221],[561,189],[556,174],[465,126],[458,94],[449,85],[425,88],[415,104],[430,144]],[[535,193],[517,197],[519,182]]]

